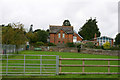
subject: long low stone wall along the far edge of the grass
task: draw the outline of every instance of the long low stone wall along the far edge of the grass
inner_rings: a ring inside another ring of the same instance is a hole
[[[79,53],[77,48],[73,47],[57,47],[57,46],[40,46],[42,48],[42,51],[55,51],[55,52],[73,52],[73,53]],[[32,48],[31,50],[34,50]],[[110,56],[118,56],[118,53],[120,51],[118,50],[102,50],[102,49],[81,49],[80,53],[84,54],[96,54],[96,55],[110,55]],[[119,53],[120,55],[120,53]]]

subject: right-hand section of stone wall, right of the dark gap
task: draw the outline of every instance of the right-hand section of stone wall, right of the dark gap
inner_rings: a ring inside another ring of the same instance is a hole
[[[115,50],[101,50],[101,49],[81,49],[81,53],[87,54],[97,54],[97,55],[110,55],[110,56],[118,56],[119,51]]]

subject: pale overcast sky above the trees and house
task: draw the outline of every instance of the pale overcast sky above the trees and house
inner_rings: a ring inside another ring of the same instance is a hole
[[[21,22],[29,29],[48,29],[65,19],[78,31],[90,17],[97,19],[101,36],[118,32],[119,0],[0,0],[0,24]]]

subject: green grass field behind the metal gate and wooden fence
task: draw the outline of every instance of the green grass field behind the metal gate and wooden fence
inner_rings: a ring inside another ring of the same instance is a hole
[[[45,51],[21,51],[19,54],[29,54],[29,55],[59,55],[62,58],[103,58],[103,59],[118,59],[117,56],[105,56],[105,55],[92,55],[92,54],[82,54],[82,53],[68,53],[68,52],[45,52]],[[21,56],[12,56],[10,59],[17,59]],[[23,58],[23,57],[21,57]],[[38,59],[38,57],[28,57]],[[48,58],[48,57],[47,57]],[[14,61],[11,61],[13,63]],[[6,61],[3,61],[6,63]],[[17,63],[17,62],[16,62]],[[20,62],[19,62],[20,63]],[[21,61],[23,63],[23,61]],[[28,63],[40,63],[40,61],[28,61]],[[48,61],[49,63],[49,61]],[[55,63],[55,62],[52,62]],[[82,61],[62,61],[62,64],[82,64]],[[107,61],[85,61],[87,65],[107,65]],[[110,61],[110,65],[118,65],[118,61]],[[4,65],[6,66],[6,65]],[[107,72],[107,67],[85,67],[85,72]],[[118,72],[118,67],[110,67],[111,72]],[[62,67],[62,72],[82,72],[81,67]],[[6,77],[6,76],[3,76]],[[15,77],[15,76],[7,76]],[[23,78],[118,78],[118,75],[93,75],[93,74],[66,74],[66,75],[56,75],[56,76],[17,76]]]

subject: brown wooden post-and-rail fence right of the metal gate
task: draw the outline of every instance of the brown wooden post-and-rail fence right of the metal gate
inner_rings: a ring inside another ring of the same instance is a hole
[[[110,61],[120,61],[120,59],[96,59],[96,58],[61,58],[60,57],[59,74],[120,74],[118,72],[110,72],[110,67],[120,67],[120,65],[110,65]],[[80,60],[82,65],[62,64],[62,60]],[[85,65],[85,61],[108,61],[108,65]],[[82,67],[82,72],[61,72],[62,67]],[[108,67],[108,72],[85,72],[85,67]]]

